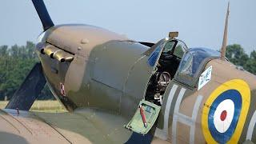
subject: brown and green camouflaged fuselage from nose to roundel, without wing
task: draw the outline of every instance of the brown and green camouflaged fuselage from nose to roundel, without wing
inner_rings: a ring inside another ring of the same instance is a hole
[[[166,38],[150,48],[86,25],[54,26],[39,38],[37,50],[46,80],[55,98],[67,110],[90,107],[122,115],[127,121],[138,109],[138,103],[147,97],[150,79],[156,72],[157,64],[149,65],[150,50],[171,40]],[[198,78],[210,67],[211,78],[199,90]],[[209,58],[199,68],[198,77],[182,80],[176,73],[171,79],[162,95],[157,128],[151,133],[155,138],[174,143],[246,139],[254,142],[256,132],[251,126],[256,119],[255,76],[219,58]],[[235,94],[240,98],[238,106],[239,98],[230,98]],[[232,110],[224,110],[225,102],[231,103]],[[215,110],[220,110],[221,117]],[[214,114],[219,118],[211,119]],[[232,122],[225,123],[226,120]],[[218,128],[220,123],[226,127]]]

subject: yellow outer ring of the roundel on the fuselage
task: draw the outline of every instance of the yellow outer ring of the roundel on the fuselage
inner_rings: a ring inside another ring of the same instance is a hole
[[[244,123],[246,121],[246,116],[250,107],[250,87],[248,84],[242,79],[234,79],[228,82],[223,83],[221,86],[218,86],[211,94],[210,97],[206,100],[206,105],[211,106],[212,103],[220,94],[225,92],[226,90],[238,90],[238,92],[242,96],[242,107],[240,116],[238,118],[238,124],[236,129],[234,130],[234,134],[231,136],[230,141],[227,143],[238,143],[238,140],[242,134],[242,129]],[[210,108],[204,106],[202,109],[202,132],[206,139],[207,143],[218,143],[214,140],[212,135],[210,134],[209,126],[208,126],[208,114]]]

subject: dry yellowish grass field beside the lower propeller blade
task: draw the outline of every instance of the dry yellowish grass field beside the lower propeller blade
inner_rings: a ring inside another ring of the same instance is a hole
[[[0,109],[5,108],[7,103],[8,101],[0,101]],[[35,101],[30,111],[61,113],[61,112],[66,112],[66,109],[58,101],[50,100],[50,101]]]

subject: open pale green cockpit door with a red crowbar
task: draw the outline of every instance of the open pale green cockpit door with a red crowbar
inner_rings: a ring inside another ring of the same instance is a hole
[[[142,100],[139,102],[134,117],[125,127],[138,134],[147,134],[157,120],[160,109],[161,106]]]

